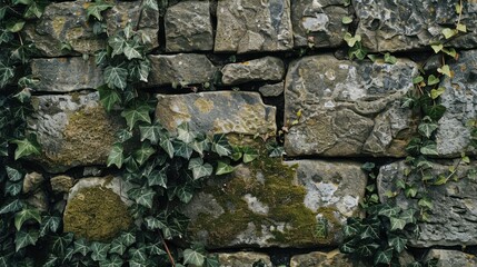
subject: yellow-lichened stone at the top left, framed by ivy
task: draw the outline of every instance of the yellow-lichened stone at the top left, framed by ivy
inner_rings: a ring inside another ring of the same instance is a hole
[[[86,9],[90,2],[53,2],[47,6],[39,21],[26,27],[26,39],[34,42],[42,56],[93,53],[105,47],[105,39],[92,31]],[[61,49],[63,44],[71,50]]]

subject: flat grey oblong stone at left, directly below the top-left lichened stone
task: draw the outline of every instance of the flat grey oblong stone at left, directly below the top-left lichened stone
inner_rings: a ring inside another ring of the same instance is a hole
[[[39,82],[36,91],[69,92],[81,89],[96,89],[105,83],[102,70],[95,59],[80,57],[33,59],[31,75]]]

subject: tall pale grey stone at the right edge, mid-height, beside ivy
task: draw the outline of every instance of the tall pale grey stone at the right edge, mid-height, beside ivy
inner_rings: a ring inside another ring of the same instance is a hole
[[[441,103],[447,108],[436,134],[439,157],[459,157],[470,152],[470,130],[466,126],[477,116],[477,51],[461,51],[457,63],[450,63],[453,79],[445,78]],[[475,150],[473,151],[475,154]]]

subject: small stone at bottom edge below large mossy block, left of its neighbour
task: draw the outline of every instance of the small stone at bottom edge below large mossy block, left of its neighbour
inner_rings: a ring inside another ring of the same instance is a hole
[[[218,254],[221,267],[242,267],[252,266],[255,263],[261,263],[264,267],[271,267],[270,257],[266,254],[259,253],[233,253],[233,254]],[[262,266],[262,265],[260,265]]]

